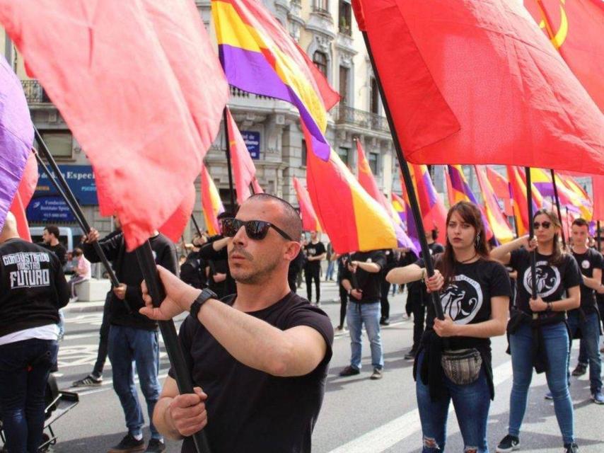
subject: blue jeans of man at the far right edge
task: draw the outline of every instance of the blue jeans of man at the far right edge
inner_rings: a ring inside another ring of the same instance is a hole
[[[589,382],[591,393],[602,389],[602,361],[600,360],[600,319],[596,312],[588,314],[581,321],[578,310],[569,311],[569,328],[571,337],[577,328],[581,328],[581,346],[585,349],[589,361]]]

